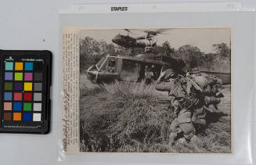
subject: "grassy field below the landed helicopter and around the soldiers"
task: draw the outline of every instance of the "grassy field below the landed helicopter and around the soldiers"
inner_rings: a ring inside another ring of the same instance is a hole
[[[97,85],[80,77],[81,152],[231,152],[230,86],[219,109],[208,114],[208,126],[196,143],[168,145],[174,115],[156,98],[168,95],[154,84],[115,82]]]

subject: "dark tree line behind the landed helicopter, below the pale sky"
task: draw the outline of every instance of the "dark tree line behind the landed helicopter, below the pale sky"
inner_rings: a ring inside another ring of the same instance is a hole
[[[117,48],[114,44],[108,44],[106,41],[96,41],[90,37],[80,39],[79,44],[81,72],[85,72],[89,66],[96,64],[99,59],[107,54],[136,56],[144,53],[144,48]],[[225,43],[212,45],[212,48],[215,52],[204,53],[200,51],[200,48],[193,45],[182,45],[175,49],[171,47],[170,42],[164,41],[162,45],[156,45],[153,48],[153,53],[184,61],[186,70],[198,68],[205,71],[230,73],[231,48]]]

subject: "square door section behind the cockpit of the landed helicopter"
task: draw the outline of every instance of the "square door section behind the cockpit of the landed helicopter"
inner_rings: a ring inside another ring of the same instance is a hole
[[[121,81],[137,82],[140,77],[140,63],[123,59],[123,65],[121,69]]]

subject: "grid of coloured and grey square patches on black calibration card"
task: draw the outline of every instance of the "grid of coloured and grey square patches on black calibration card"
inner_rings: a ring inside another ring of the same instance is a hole
[[[6,62],[4,121],[41,121],[42,62]]]

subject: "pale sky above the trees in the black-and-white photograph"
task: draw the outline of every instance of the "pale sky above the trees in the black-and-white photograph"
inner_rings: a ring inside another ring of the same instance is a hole
[[[131,33],[129,36],[138,38],[145,36],[145,29],[129,29]],[[159,29],[146,29],[157,31]],[[163,29],[161,29],[163,30]],[[158,34],[155,37],[157,45],[162,45],[164,41],[169,41],[172,48],[178,49],[182,45],[193,45],[200,48],[201,52],[209,53],[215,52],[212,48],[214,44],[220,44],[224,42],[228,46],[231,40],[231,29],[228,27],[223,28],[168,28],[164,29],[163,34]],[[112,30],[81,30],[79,32],[79,38],[91,37],[96,41],[106,41],[107,43],[113,43],[111,40],[117,34],[127,35],[128,32],[122,29]]]

